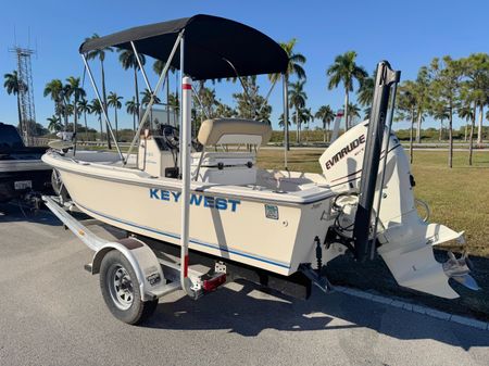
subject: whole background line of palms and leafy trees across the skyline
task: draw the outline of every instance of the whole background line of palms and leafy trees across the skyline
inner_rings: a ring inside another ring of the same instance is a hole
[[[95,34],[91,38],[99,38]],[[289,65],[285,73],[288,85],[288,99],[291,113],[287,124],[296,125],[296,141],[301,142],[303,126],[309,129],[309,124],[317,119],[323,125],[323,140],[329,140],[328,130],[330,123],[337,113],[330,105],[321,105],[316,111],[308,106],[308,94],[304,90],[306,84],[306,73],[304,65],[306,58],[296,51],[297,40],[281,42],[280,46],[289,58]],[[110,147],[108,137],[108,126],[103,126],[103,113],[113,113],[115,127],[115,138],[118,139],[118,115],[117,111],[123,106],[123,97],[114,91],[106,92],[104,61],[108,53],[114,52],[111,47],[93,50],[87,54],[88,60],[100,62],[102,92],[101,100],[86,99],[86,91],[80,86],[80,78],[70,76],[63,83],[61,79],[53,79],[46,85],[45,97],[50,97],[54,103],[54,114],[48,118],[48,128],[51,131],[67,129],[68,125],[79,126],[85,131],[88,139],[87,115],[95,115],[99,123],[100,138],[104,135]],[[344,102],[342,105],[344,115],[344,126],[349,129],[356,118],[368,118],[369,109],[374,94],[375,71],[368,74],[364,67],[356,63],[358,54],[348,51],[334,59],[331,65],[326,67],[327,88],[329,90],[342,87],[344,91]],[[151,99],[151,92],[147,88],[139,91],[138,70],[139,63],[133,50],[118,50],[118,61],[126,71],[134,74],[134,96],[124,102],[126,112],[133,116],[133,130],[136,130],[140,119],[141,106],[147,106]],[[146,65],[146,58],[140,54],[139,62]],[[152,70],[158,75],[165,66],[163,61],[156,60]],[[170,72],[176,75],[176,70],[170,67]],[[268,75],[272,83],[279,79],[280,75]],[[165,104],[167,113],[170,110],[178,113],[179,100],[178,91],[170,92],[170,73],[166,75]],[[236,83],[238,78],[228,79]],[[256,76],[240,78],[243,87],[242,92],[233,94],[235,105],[228,105],[216,98],[215,84],[221,80],[199,81],[193,93],[195,109],[192,110],[193,126],[197,131],[200,123],[205,118],[213,117],[242,117],[253,118],[271,123],[272,106],[268,104],[268,94],[263,96],[258,85]],[[8,93],[17,96],[18,106],[18,79],[16,72],[4,75],[4,87]],[[352,103],[352,96],[356,103]],[[441,59],[435,58],[429,65],[419,67],[417,77],[414,80],[404,80],[398,88],[398,104],[396,121],[409,121],[411,160],[413,157],[413,142],[421,142],[422,124],[426,117],[431,117],[440,123],[439,138],[443,138],[443,132],[449,140],[449,166],[452,166],[453,156],[453,117],[457,115],[466,121],[464,140],[469,142],[469,159],[473,161],[473,140],[475,136],[477,121],[477,143],[482,142],[484,117],[489,119],[489,112],[484,115],[484,109],[489,104],[489,55],[487,53],[475,53],[466,58],[454,60],[450,56]],[[156,98],[156,103],[161,100]],[[363,111],[362,111],[363,109]],[[112,111],[111,111],[112,110]],[[78,124],[82,118],[84,125]],[[73,124],[68,119],[73,117]],[[111,116],[112,119],[112,116]],[[168,115],[170,121],[170,115]],[[20,116],[21,122],[21,116]],[[284,115],[279,116],[279,126],[284,127]],[[285,137],[286,139],[288,137]]]

